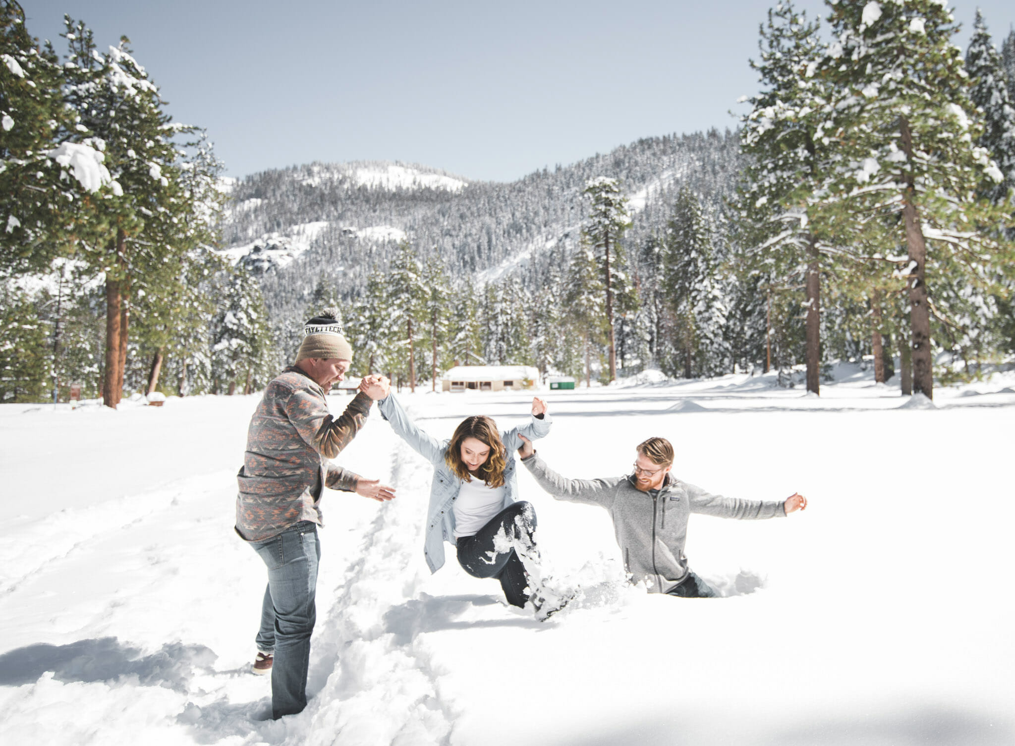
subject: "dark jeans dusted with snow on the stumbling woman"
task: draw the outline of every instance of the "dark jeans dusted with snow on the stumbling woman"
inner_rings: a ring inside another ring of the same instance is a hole
[[[496,578],[507,603],[525,606],[529,600],[529,575],[516,548],[535,559],[536,543],[532,537],[535,530],[536,512],[532,505],[524,500],[515,502],[472,536],[459,538],[458,562],[473,578]],[[501,538],[495,541],[498,534]]]

